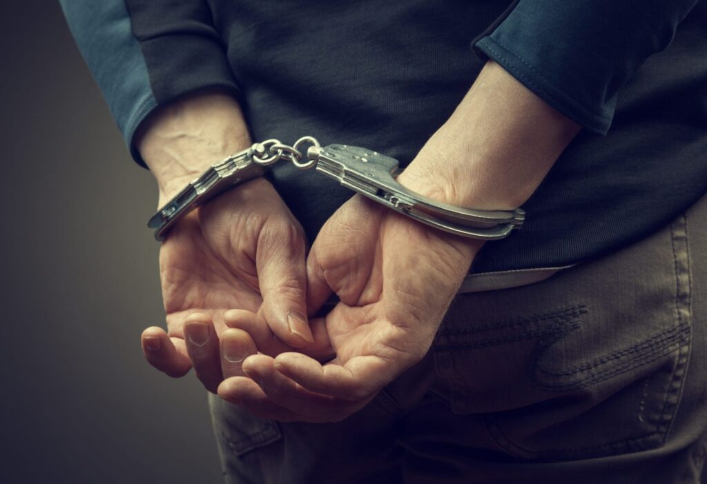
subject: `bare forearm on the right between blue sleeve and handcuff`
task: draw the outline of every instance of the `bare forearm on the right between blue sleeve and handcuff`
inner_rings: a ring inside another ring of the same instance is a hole
[[[450,119],[399,176],[453,205],[522,205],[580,130],[489,61]]]

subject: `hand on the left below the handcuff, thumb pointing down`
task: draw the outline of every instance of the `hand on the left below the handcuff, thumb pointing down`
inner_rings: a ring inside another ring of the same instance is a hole
[[[306,318],[303,231],[264,179],[182,219],[160,249],[160,279],[168,333],[151,327],[142,341],[148,361],[168,375],[184,375],[194,365],[216,392],[224,373],[242,374],[234,363],[255,349],[247,334],[228,331],[239,317],[234,308],[257,312],[276,335],[260,341],[260,351],[330,352],[323,331],[324,343],[320,337],[313,344]]]

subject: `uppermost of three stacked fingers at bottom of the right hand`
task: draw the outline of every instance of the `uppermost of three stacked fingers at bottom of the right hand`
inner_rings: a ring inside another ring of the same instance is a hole
[[[322,365],[300,353],[282,353],[274,367],[310,392],[351,401],[373,398],[395,376],[378,356],[356,356],[346,365]]]

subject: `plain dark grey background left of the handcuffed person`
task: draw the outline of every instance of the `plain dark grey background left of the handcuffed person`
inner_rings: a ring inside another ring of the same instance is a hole
[[[0,2],[0,483],[221,481],[206,393],[143,359],[163,325],[156,186],[58,4]]]

